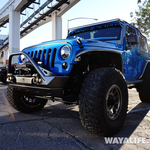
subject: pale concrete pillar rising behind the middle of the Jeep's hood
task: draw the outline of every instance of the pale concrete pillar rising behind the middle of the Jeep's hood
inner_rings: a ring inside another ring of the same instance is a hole
[[[56,12],[52,14],[52,39],[62,39],[62,17],[58,17]]]

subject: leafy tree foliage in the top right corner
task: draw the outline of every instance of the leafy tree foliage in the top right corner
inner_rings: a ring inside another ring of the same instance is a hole
[[[131,24],[150,37],[150,0],[138,0],[137,4],[139,9],[130,13]]]

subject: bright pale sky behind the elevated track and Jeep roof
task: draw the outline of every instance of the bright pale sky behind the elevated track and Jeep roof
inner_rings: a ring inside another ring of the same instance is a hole
[[[0,8],[2,8],[6,2],[8,1],[0,0]],[[98,21],[92,19],[78,19],[69,21],[69,27],[76,27],[116,18],[123,19],[130,23],[130,12],[134,12],[137,9],[137,0],[80,0],[80,2],[62,16],[62,38],[65,39],[67,36],[67,22],[70,19],[88,17],[96,18]],[[8,34],[8,31],[4,30],[5,29],[2,28],[0,34]],[[27,46],[50,40],[52,40],[52,23],[48,22],[23,37],[20,41],[20,50]]]

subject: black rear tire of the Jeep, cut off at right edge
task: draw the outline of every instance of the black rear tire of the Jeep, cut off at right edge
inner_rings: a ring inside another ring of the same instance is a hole
[[[143,82],[136,85],[140,100],[150,103],[150,69],[147,69],[142,77]]]

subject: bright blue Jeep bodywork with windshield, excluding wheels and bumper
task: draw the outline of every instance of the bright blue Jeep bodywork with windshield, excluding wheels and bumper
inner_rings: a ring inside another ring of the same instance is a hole
[[[138,35],[139,44],[136,46],[132,45],[131,49],[126,48],[128,45],[126,43],[127,26],[133,28],[136,35]],[[43,61],[44,65],[47,65],[47,62],[49,62],[48,69],[57,75],[69,74],[73,65],[77,63],[75,62],[76,56],[82,52],[88,52],[91,50],[118,52],[122,57],[123,74],[125,78],[127,80],[136,79],[141,74],[144,61],[150,59],[149,52],[143,51],[140,48],[139,35],[141,35],[141,33],[138,29],[129,25],[127,22],[115,21],[81,27],[70,31],[67,39],[40,43],[38,45],[25,48],[23,51],[30,53],[29,55],[32,55],[31,57],[40,57],[39,61]],[[142,37],[146,40],[144,36]],[[77,43],[77,39],[82,41],[83,48],[80,48]],[[61,48],[64,45],[68,45],[71,48],[70,56],[66,60],[62,59],[60,53]],[[141,55],[137,55],[138,53]],[[21,62],[20,58],[19,62]],[[67,69],[62,68],[62,64],[64,62],[68,63]],[[54,64],[54,66],[52,64]]]

